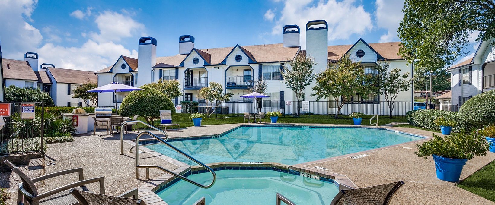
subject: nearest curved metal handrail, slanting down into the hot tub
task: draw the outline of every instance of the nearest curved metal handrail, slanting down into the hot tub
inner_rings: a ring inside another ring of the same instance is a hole
[[[182,176],[182,175],[180,175],[180,174],[178,174],[178,173],[175,173],[175,172],[173,172],[173,171],[171,171],[171,170],[168,170],[168,169],[163,168],[163,167],[158,166],[158,165],[140,165],[140,164],[139,164],[139,138],[140,138],[142,135],[144,135],[144,134],[148,134],[149,136],[151,136],[151,137],[155,138],[156,140],[160,141],[161,143],[163,143],[163,144],[165,144],[165,145],[169,146],[169,147],[170,147],[170,148],[172,148],[173,150],[175,150],[175,151],[177,151],[178,153],[182,154],[184,157],[187,157],[188,159],[192,160],[192,161],[193,161],[193,162],[195,162],[195,163],[198,163],[200,166],[202,166],[202,167],[204,167],[205,169],[207,169],[209,172],[211,172],[211,174],[213,174],[213,181],[211,182],[211,184],[204,186],[204,185],[199,184],[199,183],[197,183],[197,182],[195,182],[195,181],[193,181],[193,180],[191,180],[191,179],[186,178],[185,176]],[[210,188],[210,187],[211,187],[211,186],[213,186],[213,184],[215,183],[215,180],[216,180],[216,174],[215,174],[215,171],[214,171],[212,168],[210,168],[210,167],[209,167],[209,166],[207,166],[206,164],[203,164],[203,163],[199,162],[198,160],[194,159],[193,157],[191,157],[190,155],[186,154],[186,153],[185,153],[185,152],[183,152],[182,150],[177,149],[176,147],[174,147],[174,146],[173,146],[173,145],[171,145],[170,143],[166,142],[165,140],[163,140],[162,138],[160,138],[160,137],[156,136],[155,134],[153,134],[152,132],[150,132],[150,131],[148,131],[148,130],[140,132],[140,133],[138,134],[138,136],[136,137],[136,148],[135,148],[135,152],[136,152],[136,179],[139,179],[139,168],[146,168],[146,176],[147,176],[147,178],[149,178],[149,168],[157,168],[157,169],[160,169],[160,170],[165,171],[165,172],[167,172],[167,173],[169,173],[169,174],[172,174],[172,175],[174,175],[174,176],[175,176],[175,177],[177,177],[177,178],[180,178],[180,179],[182,179],[182,180],[185,180],[185,181],[187,181],[187,182],[189,182],[189,183],[191,183],[191,184],[194,184],[194,185],[196,185],[196,186],[198,186],[198,187],[201,187],[201,188],[205,188],[205,189]]]

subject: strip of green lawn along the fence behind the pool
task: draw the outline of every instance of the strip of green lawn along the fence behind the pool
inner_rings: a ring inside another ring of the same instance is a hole
[[[218,115],[218,119],[215,119],[215,114],[211,115],[211,117],[205,117],[203,118],[203,121],[201,122],[201,125],[211,125],[211,124],[230,124],[230,123],[243,123],[243,117],[238,116],[235,117],[236,114],[229,114],[229,115]],[[172,121],[173,123],[180,123],[181,127],[188,127],[188,126],[193,126],[193,122],[189,120],[189,114],[186,113],[176,113],[172,114]],[[280,117],[278,119],[278,123],[330,123],[330,124],[353,124],[352,119],[350,119],[347,116],[341,116],[342,119],[334,119],[333,115],[302,115],[301,117],[293,117],[293,116],[285,116],[285,117]],[[362,124],[363,125],[369,125],[369,119],[372,116],[364,116]],[[144,119],[140,118],[139,120],[142,120],[146,122]],[[252,119],[251,119],[252,121]],[[159,121],[155,121],[158,123]],[[270,118],[266,118],[265,122],[270,122]],[[373,120],[373,123],[376,122]],[[378,121],[379,125],[387,124],[387,123],[392,123],[392,122],[399,122],[399,123],[405,123],[406,120],[404,117],[393,117],[392,119],[389,119],[388,117],[385,116],[380,116],[380,119]],[[156,124],[155,123],[155,124]],[[246,120],[247,123],[247,120]]]

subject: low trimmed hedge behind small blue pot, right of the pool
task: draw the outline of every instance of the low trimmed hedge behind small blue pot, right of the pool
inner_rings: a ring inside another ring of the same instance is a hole
[[[455,121],[458,125],[452,127],[453,132],[459,132],[463,127],[464,123],[462,122],[458,112],[450,112],[445,110],[413,110],[406,113],[407,123],[425,129],[440,130],[440,126],[433,122],[438,117],[445,117]]]

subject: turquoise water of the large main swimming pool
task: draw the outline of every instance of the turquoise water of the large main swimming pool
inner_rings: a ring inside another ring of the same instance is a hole
[[[299,164],[421,139],[384,129],[301,126],[241,126],[221,136],[170,142],[204,164],[274,162]],[[163,144],[148,148],[186,164]]]

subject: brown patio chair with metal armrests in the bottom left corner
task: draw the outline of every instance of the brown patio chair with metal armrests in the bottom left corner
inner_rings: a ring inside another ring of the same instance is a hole
[[[103,177],[85,180],[82,167],[58,171],[31,179],[8,160],[3,161],[3,163],[12,168],[12,172],[15,172],[21,178],[22,182],[19,183],[19,190],[17,192],[17,205],[25,205],[25,203],[29,203],[29,205],[79,205],[79,202],[70,195],[69,190],[76,188],[81,191],[91,191],[85,185],[95,182],[99,182],[99,193],[105,194]],[[38,189],[34,183],[69,173],[78,173],[79,181],[60,186],[45,193],[38,193]]]

